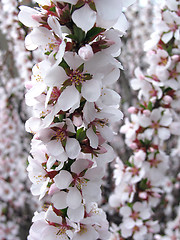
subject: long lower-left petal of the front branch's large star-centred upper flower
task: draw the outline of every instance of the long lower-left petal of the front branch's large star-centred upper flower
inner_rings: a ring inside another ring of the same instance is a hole
[[[55,105],[56,112],[60,110],[67,111],[79,102],[79,92],[75,86],[67,87],[58,98],[58,101]]]

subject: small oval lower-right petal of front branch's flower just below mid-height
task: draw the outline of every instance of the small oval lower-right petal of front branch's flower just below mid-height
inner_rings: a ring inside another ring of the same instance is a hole
[[[65,149],[68,157],[71,159],[77,158],[81,151],[80,144],[75,138],[67,138]]]

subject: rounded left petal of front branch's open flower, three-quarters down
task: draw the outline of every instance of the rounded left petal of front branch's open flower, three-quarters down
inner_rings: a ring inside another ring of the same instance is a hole
[[[61,170],[59,174],[54,177],[54,182],[59,189],[66,189],[73,181],[71,174],[66,170]]]

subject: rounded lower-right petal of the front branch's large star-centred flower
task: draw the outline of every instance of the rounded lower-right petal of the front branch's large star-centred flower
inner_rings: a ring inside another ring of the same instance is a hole
[[[89,102],[95,102],[101,95],[101,85],[100,79],[92,79],[84,82],[81,89],[82,96]]]

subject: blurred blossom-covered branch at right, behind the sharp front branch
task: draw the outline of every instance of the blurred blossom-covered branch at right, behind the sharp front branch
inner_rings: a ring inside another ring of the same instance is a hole
[[[168,204],[166,177],[170,156],[166,154],[165,141],[172,134],[179,135],[179,74],[180,74],[180,17],[179,1],[162,1],[155,12],[155,32],[146,42],[147,74],[140,68],[135,70],[136,78],[131,81],[138,90],[138,106],[130,107],[130,120],[126,119],[120,132],[126,136],[126,144],[133,155],[124,164],[117,159],[115,192],[110,205],[116,207],[122,217],[119,226],[112,226],[111,239],[154,239],[160,227],[153,216],[158,208]],[[169,171],[171,173],[171,171]],[[175,177],[179,188],[178,179]],[[175,180],[174,179],[174,180]],[[170,199],[169,199],[170,201]],[[177,207],[175,208],[177,211]],[[153,211],[155,210],[155,211]],[[155,213],[157,213],[155,215]],[[176,213],[175,213],[176,214]],[[167,236],[156,235],[156,239],[178,239],[179,216],[167,224]]]

